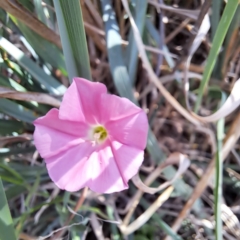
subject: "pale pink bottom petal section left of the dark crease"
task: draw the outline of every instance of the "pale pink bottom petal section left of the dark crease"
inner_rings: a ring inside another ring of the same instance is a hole
[[[93,152],[88,160],[91,161],[92,178],[89,187],[98,193],[119,192],[128,188],[109,144],[108,142],[97,152]]]

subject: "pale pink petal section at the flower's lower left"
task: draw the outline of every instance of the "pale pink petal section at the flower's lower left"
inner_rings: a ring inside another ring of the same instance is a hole
[[[46,160],[49,176],[61,189],[73,192],[88,186],[92,163],[88,160],[95,148],[84,142]]]

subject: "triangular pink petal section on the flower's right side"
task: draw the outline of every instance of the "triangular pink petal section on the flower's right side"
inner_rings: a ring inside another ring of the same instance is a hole
[[[108,134],[118,142],[144,149],[147,143],[148,120],[143,111],[105,125]]]

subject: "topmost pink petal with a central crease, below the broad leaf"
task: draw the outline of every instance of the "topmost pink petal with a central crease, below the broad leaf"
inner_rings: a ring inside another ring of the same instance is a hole
[[[64,94],[59,117],[64,120],[96,124],[99,118],[98,104],[101,94],[106,92],[106,86],[102,83],[74,78]]]

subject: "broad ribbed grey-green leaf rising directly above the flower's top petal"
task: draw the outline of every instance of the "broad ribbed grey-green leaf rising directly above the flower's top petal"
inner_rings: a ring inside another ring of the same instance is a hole
[[[91,80],[88,48],[79,0],[54,0],[63,53],[70,81]]]

